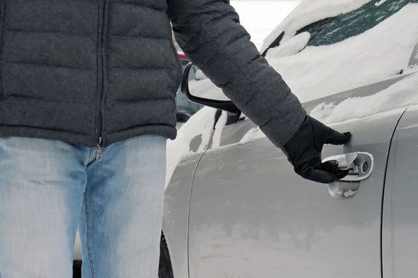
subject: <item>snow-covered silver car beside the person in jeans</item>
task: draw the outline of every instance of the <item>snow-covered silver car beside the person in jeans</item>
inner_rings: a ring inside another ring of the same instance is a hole
[[[208,108],[168,142],[160,278],[415,275],[417,14],[417,0],[302,1],[266,38],[307,112],[353,134],[323,150],[350,170],[329,186],[187,65],[182,90]]]

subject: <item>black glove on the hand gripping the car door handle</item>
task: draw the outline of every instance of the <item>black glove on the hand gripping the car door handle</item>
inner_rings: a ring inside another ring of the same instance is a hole
[[[343,145],[350,140],[350,136],[350,132],[339,133],[307,116],[300,129],[281,149],[295,167],[295,172],[304,179],[333,183],[346,177],[348,170],[339,170],[336,161],[322,163],[320,153],[324,144]]]

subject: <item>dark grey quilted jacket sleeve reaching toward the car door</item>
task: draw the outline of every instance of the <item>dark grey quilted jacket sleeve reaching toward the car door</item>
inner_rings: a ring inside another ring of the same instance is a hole
[[[261,57],[229,0],[167,0],[176,40],[187,57],[283,147],[306,111],[281,76]]]

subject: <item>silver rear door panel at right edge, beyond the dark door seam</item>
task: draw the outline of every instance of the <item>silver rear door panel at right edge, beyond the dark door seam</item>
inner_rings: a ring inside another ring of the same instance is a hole
[[[417,119],[418,106],[411,106],[398,123],[390,149],[382,218],[385,278],[409,278],[418,272]]]

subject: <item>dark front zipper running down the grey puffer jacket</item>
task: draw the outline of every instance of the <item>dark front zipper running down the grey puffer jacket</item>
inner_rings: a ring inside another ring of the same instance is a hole
[[[96,156],[97,161],[102,161],[102,121],[103,121],[103,95],[104,95],[104,67],[106,52],[104,47],[106,45],[106,3],[107,0],[100,1],[100,28],[98,35],[98,97],[96,104],[96,117],[95,117],[95,141],[98,142],[98,154]]]

